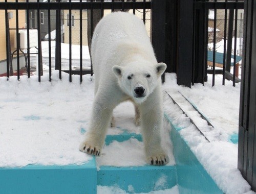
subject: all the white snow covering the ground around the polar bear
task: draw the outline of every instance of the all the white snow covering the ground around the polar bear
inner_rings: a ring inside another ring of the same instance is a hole
[[[65,52],[68,49],[62,52],[63,55]],[[74,53],[74,58],[77,53]],[[88,57],[88,53],[84,53],[86,55]],[[47,64],[44,66],[47,69]],[[37,79],[37,76],[31,76],[30,79],[21,76],[19,81],[16,77],[11,77],[9,81],[6,77],[0,78],[0,167],[28,164],[79,165],[87,162],[91,156],[79,152],[78,147],[89,125],[94,78],[85,75],[80,84],[79,76],[73,76],[70,83],[68,74],[63,73],[59,80],[58,71],[53,71],[51,82],[48,81],[47,72],[40,83]],[[210,75],[208,80],[211,80]],[[223,86],[219,75],[216,76],[214,87],[206,82],[204,86],[195,84],[187,88],[178,86],[176,82],[175,74],[166,74],[163,89],[189,113],[190,107],[181,100],[180,91],[210,119],[215,128],[208,131],[205,129],[205,134],[211,142],[208,143],[190,125],[177,105],[166,99],[166,95],[165,112],[174,124],[184,128],[180,134],[225,193],[251,192],[250,186],[237,169],[238,145],[229,142],[230,136],[238,133],[240,84],[233,87],[231,82],[226,81]],[[139,127],[133,124],[134,108],[131,103],[118,106],[114,116],[117,127],[109,128],[109,134],[120,134],[124,129],[140,133]],[[172,143],[166,138],[166,130],[169,129],[164,130],[163,143],[170,157],[168,165],[173,165]],[[145,164],[143,143],[135,139],[122,143],[114,141],[110,146],[105,146],[102,153],[97,158],[99,167]],[[158,193],[178,192],[177,186],[172,189]],[[114,187],[98,187],[98,193],[114,192],[125,193]]]

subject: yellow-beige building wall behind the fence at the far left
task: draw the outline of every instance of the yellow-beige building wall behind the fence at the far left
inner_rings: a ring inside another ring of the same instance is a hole
[[[3,2],[3,0],[1,0]],[[9,2],[9,1],[8,1]],[[13,18],[9,19],[10,28],[16,28],[16,11],[8,10],[8,12],[13,12]],[[6,27],[5,27],[5,10],[0,10],[0,61],[6,60]],[[18,27],[25,27],[25,10],[18,11]],[[10,30],[10,39],[11,39],[11,48],[12,51],[14,48],[14,33],[15,30]]]

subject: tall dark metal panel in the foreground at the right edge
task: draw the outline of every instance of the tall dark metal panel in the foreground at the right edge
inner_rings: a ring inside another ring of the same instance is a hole
[[[256,0],[245,1],[238,168],[256,190]],[[254,8],[254,9],[253,9]]]

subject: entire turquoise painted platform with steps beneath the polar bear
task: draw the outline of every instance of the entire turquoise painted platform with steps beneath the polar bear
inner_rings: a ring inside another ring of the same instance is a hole
[[[0,193],[89,193],[97,192],[97,185],[118,186],[126,192],[150,192],[178,185],[180,193],[223,193],[207,174],[179,130],[172,125],[175,166],[100,166],[97,171],[95,158],[80,166],[38,166],[0,168]],[[124,131],[120,135],[108,135],[106,145],[113,140],[125,141],[139,134]],[[158,184],[164,178],[164,184]]]

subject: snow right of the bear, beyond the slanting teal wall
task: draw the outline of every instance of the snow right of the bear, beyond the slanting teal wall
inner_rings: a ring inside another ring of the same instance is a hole
[[[238,144],[228,141],[231,134],[238,133],[240,84],[233,87],[232,82],[227,81],[223,86],[221,85],[222,77],[217,75],[216,86],[211,87],[211,83],[206,82],[205,86],[195,84],[190,89],[178,86],[175,80],[175,74],[166,75],[164,89],[180,104],[182,104],[182,96],[179,92],[183,93],[209,118],[215,128],[209,128],[206,122],[200,123],[196,120],[195,123],[200,126],[210,142],[166,95],[165,113],[175,125],[182,128],[180,135],[224,193],[248,192],[250,186],[237,169]],[[182,109],[193,118],[195,113],[191,113],[191,107],[188,103]],[[205,130],[203,126],[207,126],[208,129]]]

